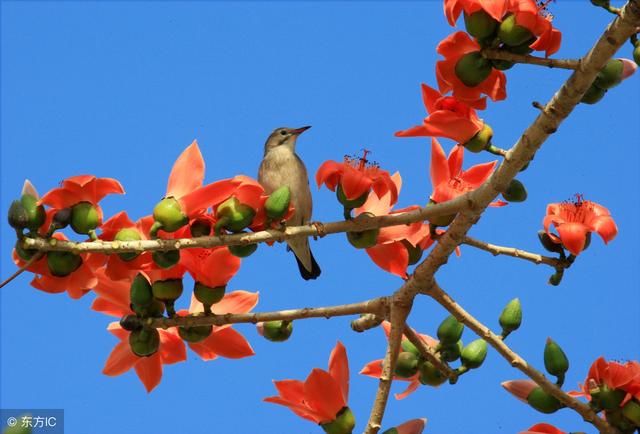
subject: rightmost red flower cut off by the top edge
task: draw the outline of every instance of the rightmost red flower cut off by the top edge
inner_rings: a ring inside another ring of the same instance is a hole
[[[510,0],[509,11],[515,16],[516,24],[525,27],[537,37],[529,47],[544,51],[547,56],[560,49],[562,33],[551,25],[546,1],[538,5],[535,0]]]

